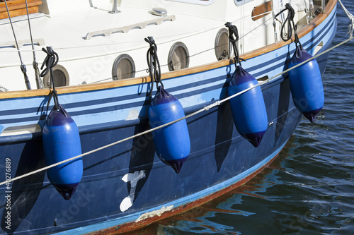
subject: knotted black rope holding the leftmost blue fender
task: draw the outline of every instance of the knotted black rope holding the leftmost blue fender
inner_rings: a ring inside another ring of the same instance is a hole
[[[43,69],[43,67],[45,66],[45,69],[42,71],[42,73],[40,73],[40,76],[44,77],[47,75],[47,73],[50,73],[50,80],[52,82],[52,88],[53,88],[52,92],[50,92],[50,97],[47,103],[47,107],[49,107],[50,100],[53,97],[54,107],[55,109],[59,109],[58,94],[57,94],[57,90],[55,90],[55,83],[53,78],[53,68],[58,64],[59,56],[57,52],[53,51],[52,47],[47,47],[47,49],[42,48],[42,51],[47,54],[47,57],[45,57],[45,60],[43,61],[42,66],[40,67],[40,69]]]

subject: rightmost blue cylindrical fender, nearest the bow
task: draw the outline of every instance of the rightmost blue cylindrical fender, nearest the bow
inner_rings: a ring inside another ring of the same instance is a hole
[[[298,46],[292,56],[289,68],[310,58],[312,55]],[[316,59],[289,71],[289,81],[295,107],[309,121],[314,122],[317,114],[324,107],[324,87]]]

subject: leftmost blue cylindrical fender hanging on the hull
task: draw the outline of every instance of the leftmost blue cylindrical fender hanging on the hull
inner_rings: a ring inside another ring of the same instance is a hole
[[[45,163],[48,165],[81,155],[79,129],[65,109],[53,108],[42,131]],[[81,181],[82,158],[47,169],[47,176],[65,200],[69,200]]]

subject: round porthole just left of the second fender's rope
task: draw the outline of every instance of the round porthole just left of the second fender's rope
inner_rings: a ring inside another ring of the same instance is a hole
[[[135,76],[135,64],[128,54],[121,54],[118,56],[112,68],[113,80],[120,80],[125,78],[134,78]]]

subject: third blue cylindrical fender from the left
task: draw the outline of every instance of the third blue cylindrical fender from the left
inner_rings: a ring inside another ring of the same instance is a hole
[[[256,78],[239,66],[229,83],[228,94],[232,96],[258,84]],[[263,93],[258,86],[230,100],[230,107],[237,131],[258,147],[268,127],[267,111]]]

